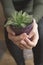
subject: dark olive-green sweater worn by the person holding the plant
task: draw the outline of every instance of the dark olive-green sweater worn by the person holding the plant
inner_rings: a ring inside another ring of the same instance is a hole
[[[23,0],[13,0],[14,2],[21,2]],[[15,11],[14,5],[12,0],[2,0],[3,6],[5,9],[6,16],[11,16],[11,14]],[[27,0],[24,0],[24,2]],[[32,12],[33,17],[38,22],[39,19],[43,16],[43,0],[28,0],[25,7],[26,12]]]

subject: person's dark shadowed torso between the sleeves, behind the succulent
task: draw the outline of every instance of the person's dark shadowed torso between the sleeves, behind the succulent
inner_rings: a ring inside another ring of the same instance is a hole
[[[17,10],[25,10],[27,12],[32,12],[33,0],[13,0],[14,7]]]

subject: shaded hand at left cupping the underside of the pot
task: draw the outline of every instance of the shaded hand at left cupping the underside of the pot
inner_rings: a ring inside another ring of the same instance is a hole
[[[19,48],[21,48],[22,43],[21,40],[24,40],[26,37],[28,37],[28,35],[26,33],[22,33],[21,35],[16,36],[15,32],[13,32],[10,28],[10,26],[8,26],[7,28],[7,32],[8,32],[8,38],[13,41],[14,44],[16,44]],[[26,49],[23,45],[22,45],[23,49]]]

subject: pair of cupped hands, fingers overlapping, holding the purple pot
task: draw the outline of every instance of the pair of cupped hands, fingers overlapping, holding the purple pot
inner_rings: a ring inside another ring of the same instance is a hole
[[[21,49],[31,49],[35,47],[39,39],[38,25],[35,20],[33,20],[33,29],[29,35],[23,33],[19,36],[15,36],[15,33],[10,29],[10,27],[7,27],[7,31],[9,39]],[[33,38],[32,41],[29,38]]]

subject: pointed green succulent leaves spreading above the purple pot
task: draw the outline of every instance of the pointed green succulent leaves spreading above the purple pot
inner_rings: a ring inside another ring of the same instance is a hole
[[[15,27],[26,27],[33,20],[32,15],[28,15],[26,12],[15,11],[10,18],[8,18],[4,27],[13,25]]]

